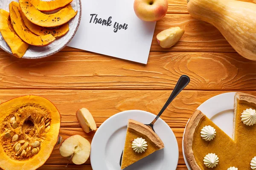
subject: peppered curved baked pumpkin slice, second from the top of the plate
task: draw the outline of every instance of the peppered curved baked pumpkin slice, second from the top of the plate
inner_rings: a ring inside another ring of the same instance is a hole
[[[70,4],[54,14],[44,14],[38,11],[30,0],[19,0],[19,2],[20,8],[26,18],[32,23],[42,27],[61,26],[77,14],[77,11],[75,11]]]

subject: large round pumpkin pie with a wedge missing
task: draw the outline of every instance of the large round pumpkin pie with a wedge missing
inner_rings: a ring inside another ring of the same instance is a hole
[[[195,111],[184,134],[184,152],[192,170],[212,169],[207,167],[207,163],[204,162],[205,157],[209,154],[218,156],[217,164],[213,169],[227,170],[229,167],[236,167],[239,170],[251,170],[251,161],[256,156],[256,124],[253,122],[256,118],[255,109],[255,96],[236,93],[233,139],[204,113]],[[249,113],[250,111],[251,113]],[[203,139],[201,136],[206,126],[213,127],[212,129],[215,131],[212,133],[212,138],[208,138],[209,140]]]

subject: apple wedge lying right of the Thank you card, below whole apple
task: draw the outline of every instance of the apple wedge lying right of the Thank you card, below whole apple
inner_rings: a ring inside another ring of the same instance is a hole
[[[170,48],[183,36],[184,30],[180,27],[171,27],[157,34],[157,42],[162,48]]]

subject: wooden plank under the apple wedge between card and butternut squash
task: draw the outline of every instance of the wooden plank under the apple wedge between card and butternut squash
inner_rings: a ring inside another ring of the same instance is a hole
[[[174,26],[185,30],[183,37],[172,48],[161,48],[157,43],[157,34]],[[63,51],[82,50],[66,47]],[[167,14],[166,17],[158,21],[150,51],[235,52],[217,28],[209,23],[196,20],[189,14]]]

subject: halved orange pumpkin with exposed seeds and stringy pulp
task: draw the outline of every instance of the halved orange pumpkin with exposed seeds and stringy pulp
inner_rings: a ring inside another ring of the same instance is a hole
[[[0,104],[0,167],[35,170],[49,158],[61,125],[57,108],[44,97],[21,96]]]

